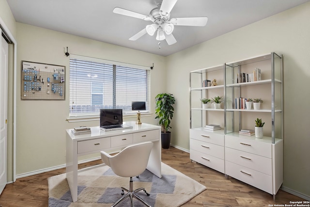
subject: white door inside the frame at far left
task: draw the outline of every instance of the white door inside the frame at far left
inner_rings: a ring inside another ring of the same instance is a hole
[[[1,30],[0,30],[0,34]],[[0,42],[0,194],[7,183],[7,106],[8,106],[8,50],[1,35]]]

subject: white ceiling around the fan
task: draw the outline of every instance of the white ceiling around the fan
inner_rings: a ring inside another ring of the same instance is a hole
[[[113,45],[167,56],[309,0],[178,0],[173,17],[207,16],[204,27],[175,26],[169,46],[145,34],[131,36],[150,21],[114,14],[114,7],[149,15],[155,0],[7,0],[17,22],[74,34]],[[70,52],[70,48],[69,48]]]

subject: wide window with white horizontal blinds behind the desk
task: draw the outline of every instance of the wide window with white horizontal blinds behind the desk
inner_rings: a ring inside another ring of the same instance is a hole
[[[70,117],[99,115],[100,109],[131,112],[132,101],[149,110],[147,67],[70,55]]]

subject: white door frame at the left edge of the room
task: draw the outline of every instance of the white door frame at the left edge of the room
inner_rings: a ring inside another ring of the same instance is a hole
[[[13,74],[14,74],[14,93],[13,93],[13,182],[16,181],[16,95],[17,95],[17,43],[10,32],[9,28],[6,26],[2,18],[0,17],[0,27],[2,32],[6,34],[6,37],[12,42],[14,46],[14,57],[13,57]],[[1,34],[2,35],[2,34]]]

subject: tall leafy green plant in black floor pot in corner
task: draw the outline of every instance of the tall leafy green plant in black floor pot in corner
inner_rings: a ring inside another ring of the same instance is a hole
[[[161,126],[161,145],[164,149],[169,149],[171,141],[171,128],[170,122],[173,117],[173,104],[175,98],[172,94],[158,94],[156,97],[156,106],[155,106],[155,119],[159,119],[159,125]]]

